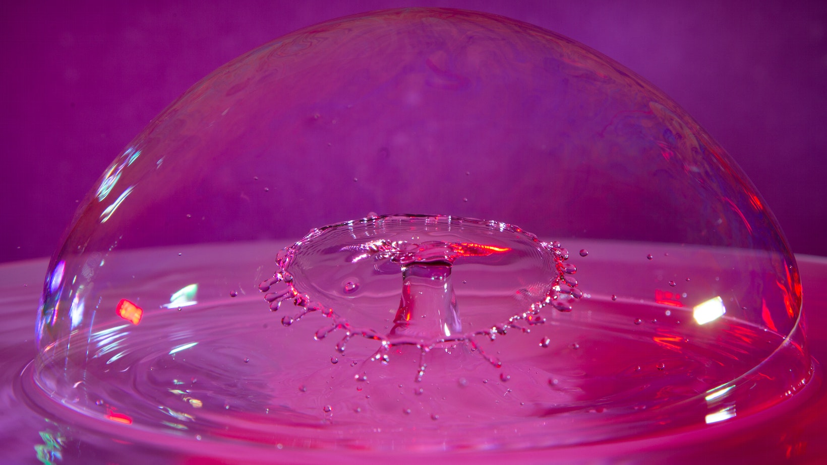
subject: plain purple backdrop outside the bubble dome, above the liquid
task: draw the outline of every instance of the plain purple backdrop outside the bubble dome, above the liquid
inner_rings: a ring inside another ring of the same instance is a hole
[[[0,7],[0,262],[51,254],[103,169],[213,69],[302,26],[405,6],[514,17],[628,66],[686,108],[738,161],[796,253],[827,255],[825,4],[7,3]]]

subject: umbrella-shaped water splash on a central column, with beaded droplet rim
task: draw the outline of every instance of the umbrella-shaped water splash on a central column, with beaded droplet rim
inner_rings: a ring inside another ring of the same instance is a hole
[[[270,309],[287,301],[289,325],[312,312],[330,318],[315,339],[341,332],[345,353],[353,337],[375,340],[370,360],[388,363],[390,349],[421,352],[416,380],[437,347],[465,346],[500,368],[476,339],[509,330],[527,333],[545,320],[546,307],[571,311],[582,297],[576,267],[557,242],[543,242],[517,226],[456,216],[371,216],[310,231],[280,251],[273,278],[260,290]],[[488,289],[490,300],[462,301],[461,283]],[[274,288],[276,287],[276,288]],[[393,314],[393,318],[387,316]],[[287,324],[285,324],[287,325]]]

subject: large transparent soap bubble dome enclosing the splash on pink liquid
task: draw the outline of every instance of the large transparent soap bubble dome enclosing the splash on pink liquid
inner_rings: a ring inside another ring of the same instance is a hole
[[[685,434],[813,376],[796,261],[724,149],[604,55],[447,9],[190,88],[81,203],[37,344],[47,410],[291,460]]]

